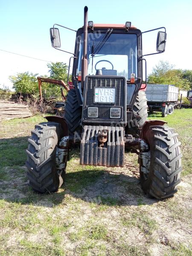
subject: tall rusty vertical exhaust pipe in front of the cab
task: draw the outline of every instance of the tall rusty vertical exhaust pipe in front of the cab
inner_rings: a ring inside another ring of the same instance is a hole
[[[83,58],[81,60],[81,88],[84,87],[85,77],[87,76],[87,22],[88,22],[88,7],[84,7],[84,27],[83,27]]]

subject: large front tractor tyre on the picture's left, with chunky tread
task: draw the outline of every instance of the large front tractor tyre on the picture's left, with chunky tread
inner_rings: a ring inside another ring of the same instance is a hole
[[[59,123],[43,122],[35,125],[26,150],[29,185],[38,192],[56,192],[65,173],[58,174],[55,163],[56,145],[62,137]]]

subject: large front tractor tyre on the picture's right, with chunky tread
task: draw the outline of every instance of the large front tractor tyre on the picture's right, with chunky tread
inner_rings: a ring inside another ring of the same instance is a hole
[[[163,199],[177,192],[182,169],[177,135],[166,126],[151,126],[145,133],[151,154],[147,163],[140,160],[140,182],[149,196]]]

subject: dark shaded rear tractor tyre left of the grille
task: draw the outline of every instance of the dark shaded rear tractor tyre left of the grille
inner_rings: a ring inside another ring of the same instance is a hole
[[[68,124],[69,135],[75,131],[81,130],[80,121],[82,115],[82,107],[79,106],[76,90],[71,89],[67,94],[64,118]]]

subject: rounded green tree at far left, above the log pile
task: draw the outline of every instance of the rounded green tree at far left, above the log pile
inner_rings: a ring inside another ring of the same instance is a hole
[[[17,93],[36,94],[38,93],[37,75],[29,72],[17,73],[17,76],[9,76],[9,80]]]

